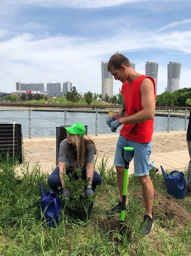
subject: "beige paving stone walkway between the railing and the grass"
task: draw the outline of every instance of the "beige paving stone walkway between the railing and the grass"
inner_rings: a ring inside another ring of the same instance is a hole
[[[118,134],[91,135],[98,150],[97,164],[103,157],[108,158],[108,168],[113,165]],[[38,163],[41,170],[51,173],[56,167],[56,137],[24,138],[26,161],[30,168]],[[164,170],[184,170],[188,166],[189,154],[186,142],[186,131],[155,132],[152,136],[152,154],[155,167],[162,165]],[[129,166],[129,174],[133,173],[133,160]]]

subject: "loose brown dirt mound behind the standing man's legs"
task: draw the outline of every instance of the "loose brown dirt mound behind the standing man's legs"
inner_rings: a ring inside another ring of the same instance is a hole
[[[139,196],[139,200],[144,205],[142,189],[139,189],[134,196]],[[154,202],[153,206],[154,215],[160,215],[163,218],[162,226],[166,225],[166,221],[173,218],[176,221],[177,226],[183,229],[183,226],[191,220],[191,214],[185,211],[185,209],[179,204],[178,200],[173,199],[171,196],[158,193],[154,190]]]

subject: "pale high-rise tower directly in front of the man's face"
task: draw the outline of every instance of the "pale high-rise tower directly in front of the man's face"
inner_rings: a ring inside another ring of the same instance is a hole
[[[101,62],[101,75],[102,75],[102,86],[101,94],[102,97],[105,97],[105,94],[110,97],[113,96],[113,76],[110,72],[107,71],[108,62]]]

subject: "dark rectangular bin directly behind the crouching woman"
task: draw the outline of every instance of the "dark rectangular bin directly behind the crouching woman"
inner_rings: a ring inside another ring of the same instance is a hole
[[[56,133],[56,150],[57,150],[56,162],[57,162],[57,165],[58,165],[58,154],[59,154],[59,150],[60,150],[60,143],[63,140],[65,140],[66,136],[67,136],[65,127],[70,127],[71,125],[56,126],[56,129],[57,129],[57,133]],[[87,135],[87,125],[84,125],[84,127],[86,128],[86,135]]]

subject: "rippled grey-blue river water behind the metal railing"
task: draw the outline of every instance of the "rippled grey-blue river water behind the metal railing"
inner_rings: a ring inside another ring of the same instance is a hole
[[[106,124],[106,113],[98,113],[98,134],[113,134]],[[24,137],[29,136],[28,111],[0,111],[0,122],[21,122]],[[81,122],[88,126],[88,135],[96,133],[96,114],[67,112],[66,125]],[[154,132],[167,131],[168,117],[155,116]],[[170,130],[184,130],[185,118],[170,117]],[[31,136],[56,136],[56,127],[64,125],[64,112],[31,111]],[[188,127],[188,119],[187,119]],[[117,133],[119,133],[119,128]]]

